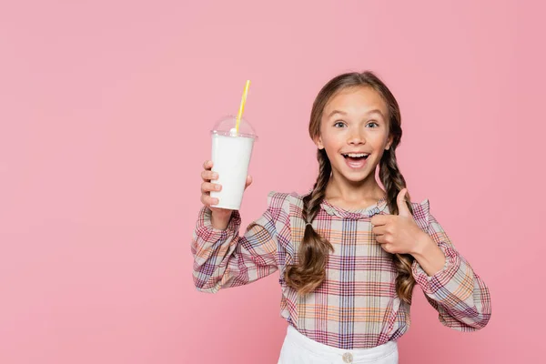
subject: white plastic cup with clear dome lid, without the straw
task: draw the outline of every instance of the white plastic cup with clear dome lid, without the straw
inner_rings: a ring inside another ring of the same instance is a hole
[[[218,199],[212,207],[238,210],[243,201],[243,192],[248,176],[248,165],[252,156],[256,132],[241,118],[238,132],[236,116],[220,119],[211,130],[212,136],[212,170],[217,172],[218,179],[213,183],[222,185],[220,191],[211,191],[210,196]]]

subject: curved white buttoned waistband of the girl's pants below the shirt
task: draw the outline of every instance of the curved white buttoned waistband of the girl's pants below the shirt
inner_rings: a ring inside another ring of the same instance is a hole
[[[298,329],[295,329],[289,324],[286,340],[299,348],[308,349],[321,356],[342,357],[346,362],[377,360],[387,357],[398,350],[398,343],[396,341],[388,341],[385,344],[369,349],[339,349],[309,339],[307,336],[300,333]],[[349,358],[350,361],[346,360]]]

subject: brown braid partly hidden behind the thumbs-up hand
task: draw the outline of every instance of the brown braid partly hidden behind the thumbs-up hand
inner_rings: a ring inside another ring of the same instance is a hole
[[[395,155],[396,146],[386,150],[379,163],[379,178],[386,189],[390,213],[398,215],[397,197],[399,192],[406,187],[406,180],[399,171]],[[410,203],[410,194],[406,196],[406,203],[413,214]],[[394,265],[397,268],[396,291],[404,302],[411,304],[411,294],[415,286],[415,278],[411,274],[411,263],[414,258],[410,254],[396,254]]]

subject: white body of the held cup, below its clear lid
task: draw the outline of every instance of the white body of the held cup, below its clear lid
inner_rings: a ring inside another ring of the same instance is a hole
[[[231,210],[241,207],[253,145],[252,136],[212,135],[212,170],[218,174],[212,183],[222,185],[220,191],[210,192],[210,196],[219,201],[212,207]]]

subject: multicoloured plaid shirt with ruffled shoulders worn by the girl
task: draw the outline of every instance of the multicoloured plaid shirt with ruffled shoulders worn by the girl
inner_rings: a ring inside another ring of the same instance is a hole
[[[369,222],[376,214],[389,214],[385,197],[358,211],[321,203],[312,225],[334,252],[329,254],[326,280],[304,297],[283,278],[285,267],[298,263],[305,230],[302,207],[296,193],[270,192],[266,212],[242,237],[238,211],[226,230],[218,230],[211,226],[210,209],[202,207],[191,245],[197,290],[214,293],[279,270],[280,315],[309,339],[340,349],[373,348],[399,339],[410,327],[410,305],[397,297],[392,255],[377,243]],[[417,284],[443,325],[461,331],[483,328],[490,319],[489,289],[430,214],[429,200],[412,207],[417,225],[446,256],[445,266],[432,277],[415,260]]]

